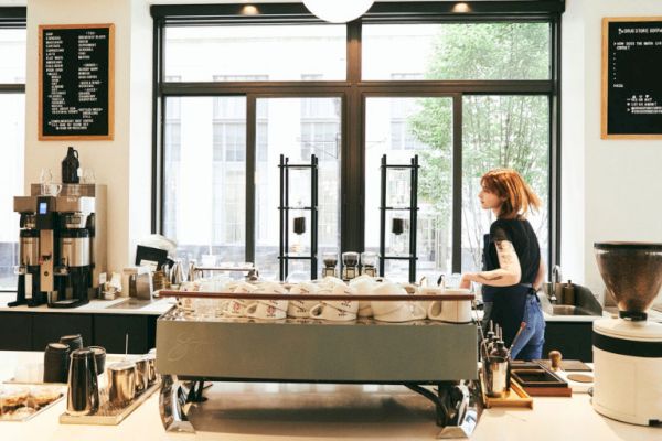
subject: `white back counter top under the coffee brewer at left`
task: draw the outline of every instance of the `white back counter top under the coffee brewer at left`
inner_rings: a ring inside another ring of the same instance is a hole
[[[89,303],[77,308],[49,308],[45,304],[35,308],[28,305],[9,308],[7,304],[13,302],[15,299],[17,294],[13,292],[0,293],[0,312],[161,315],[175,302],[174,299],[154,299],[151,302],[147,302],[120,297],[115,300],[90,300]]]

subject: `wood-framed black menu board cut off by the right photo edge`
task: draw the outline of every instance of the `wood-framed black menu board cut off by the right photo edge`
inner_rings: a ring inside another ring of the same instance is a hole
[[[601,135],[662,138],[662,18],[602,19]]]

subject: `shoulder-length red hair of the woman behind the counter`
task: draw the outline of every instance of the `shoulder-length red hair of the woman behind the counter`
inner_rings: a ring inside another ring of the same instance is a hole
[[[490,170],[480,179],[484,190],[503,200],[499,218],[525,217],[530,211],[541,207],[541,200],[531,186],[512,169]]]

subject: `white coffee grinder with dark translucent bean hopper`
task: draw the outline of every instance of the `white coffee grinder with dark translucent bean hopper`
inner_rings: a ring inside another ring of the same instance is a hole
[[[662,286],[662,244],[594,244],[618,319],[592,326],[592,406],[615,420],[662,424],[662,324],[647,320]]]

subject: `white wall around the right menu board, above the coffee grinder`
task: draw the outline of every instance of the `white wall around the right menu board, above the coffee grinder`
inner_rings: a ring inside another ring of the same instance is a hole
[[[662,17],[662,1],[567,0],[563,15],[562,268],[600,294],[594,243],[662,241],[662,140],[600,139],[604,17]]]

